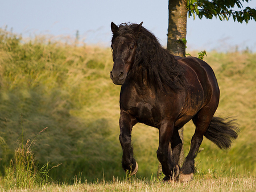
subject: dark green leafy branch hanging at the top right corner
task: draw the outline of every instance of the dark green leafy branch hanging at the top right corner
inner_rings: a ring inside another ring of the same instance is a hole
[[[245,7],[243,10],[234,10],[234,7],[242,9],[241,2],[249,2],[249,0],[188,0],[188,15],[195,19],[198,15],[199,18],[212,19],[213,16],[218,17],[220,20],[228,20],[230,17],[237,20],[237,22],[246,23],[249,20],[256,21],[256,10],[251,7]]]

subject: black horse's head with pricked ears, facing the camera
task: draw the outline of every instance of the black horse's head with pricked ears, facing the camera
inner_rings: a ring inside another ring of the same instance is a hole
[[[133,28],[130,30],[125,29],[123,26],[117,27],[113,22],[111,23],[113,32],[111,47],[114,65],[110,72],[110,78],[114,84],[122,85],[134,64],[137,48],[136,39],[142,23],[133,24]]]

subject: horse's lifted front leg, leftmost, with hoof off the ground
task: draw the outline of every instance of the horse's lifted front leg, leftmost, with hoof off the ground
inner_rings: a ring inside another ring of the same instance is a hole
[[[120,135],[119,140],[123,149],[122,167],[130,175],[137,173],[138,164],[133,157],[133,147],[131,146],[131,130],[137,120],[125,111],[121,111],[119,119]]]

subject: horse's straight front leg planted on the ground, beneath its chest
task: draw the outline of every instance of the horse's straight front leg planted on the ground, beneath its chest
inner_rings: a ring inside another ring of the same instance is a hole
[[[164,120],[159,128],[159,147],[156,153],[158,160],[162,164],[163,174],[166,175],[163,181],[170,181],[173,176],[174,162],[172,162],[170,147],[173,131],[174,124],[169,120]]]

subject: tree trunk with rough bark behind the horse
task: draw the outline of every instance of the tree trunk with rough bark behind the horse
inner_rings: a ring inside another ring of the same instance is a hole
[[[167,49],[174,55],[185,57],[186,35],[187,35],[187,0],[169,0],[169,25]],[[180,138],[183,142],[183,128],[179,130]],[[179,165],[184,161],[184,148],[182,147]],[[162,166],[158,165],[158,178],[162,176]]]

